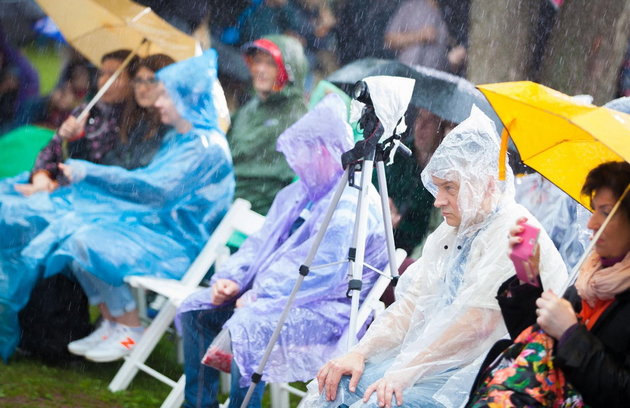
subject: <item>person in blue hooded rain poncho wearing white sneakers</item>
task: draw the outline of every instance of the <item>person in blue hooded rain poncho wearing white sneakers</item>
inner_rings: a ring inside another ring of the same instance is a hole
[[[91,303],[101,304],[105,320],[80,349],[70,350],[95,361],[121,357],[129,347],[110,344],[100,355],[90,352],[100,344],[96,340],[124,340],[131,336],[127,328],[139,326],[125,276],[180,278],[227,211],[234,175],[219,124],[221,107],[227,107],[216,79],[216,53],[170,65],[157,77],[163,89],[156,107],[162,122],[175,129],[146,167],[66,161],[73,182],[45,197],[44,207],[56,211],[55,218],[21,251],[15,273],[0,270],[7,277],[0,279],[0,303],[8,306],[0,308],[3,330],[14,327],[12,316],[37,279],[72,271]],[[2,334],[7,356],[18,335]]]

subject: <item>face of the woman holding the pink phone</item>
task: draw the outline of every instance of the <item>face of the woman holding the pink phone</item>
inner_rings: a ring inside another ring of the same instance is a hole
[[[591,201],[593,214],[587,224],[593,233],[602,226],[616,202],[617,197],[607,187],[600,188],[595,192]],[[630,220],[622,211],[615,213],[602,232],[595,243],[595,252],[602,258],[621,257],[630,252]]]

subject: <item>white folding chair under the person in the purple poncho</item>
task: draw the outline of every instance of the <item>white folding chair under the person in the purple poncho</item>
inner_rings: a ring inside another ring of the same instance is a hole
[[[396,267],[400,268],[407,251],[404,249],[396,249]],[[378,316],[383,310],[385,305],[380,301],[381,296],[385,292],[385,289],[391,282],[391,274],[389,267],[385,268],[383,275],[379,275],[378,279],[370,289],[370,292],[365,297],[361,306],[359,307],[359,314],[357,316],[357,329],[360,330],[367,322],[368,318],[374,314],[374,317]],[[347,333],[346,333],[347,334]],[[356,334],[355,334],[356,335]],[[346,339],[342,338],[341,341],[345,342]],[[304,398],[306,392],[298,390],[297,388],[289,385],[288,383],[270,383],[269,391],[271,392],[271,407],[272,408],[289,408],[289,395],[297,395],[300,398]]]

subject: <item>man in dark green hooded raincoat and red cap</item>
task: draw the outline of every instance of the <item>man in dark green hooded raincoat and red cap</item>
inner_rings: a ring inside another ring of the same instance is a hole
[[[276,193],[295,175],[276,151],[278,136],[306,112],[304,76],[307,62],[294,38],[270,35],[245,48],[256,95],[232,120],[227,134],[236,176],[236,197],[266,214]]]

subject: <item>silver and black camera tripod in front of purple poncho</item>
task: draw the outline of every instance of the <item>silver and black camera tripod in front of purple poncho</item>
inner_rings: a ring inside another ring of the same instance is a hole
[[[360,82],[359,84],[362,84]],[[366,88],[363,89],[364,92]],[[369,96],[367,97],[369,98]],[[359,99],[359,98],[357,98]],[[377,270],[371,265],[368,265],[364,262],[365,258],[365,242],[367,239],[367,223],[368,223],[368,191],[370,184],[372,182],[372,172],[374,167],[376,167],[377,181],[379,187],[379,195],[381,201],[381,210],[383,213],[383,221],[385,227],[385,237],[386,237],[386,245],[387,245],[387,255],[388,255],[388,265],[390,275],[387,276],[392,280],[393,285],[396,285],[398,281],[398,269],[396,267],[396,258],[395,251],[396,248],[394,246],[394,234],[392,231],[392,220],[391,213],[389,211],[389,195],[387,192],[387,182],[385,180],[385,160],[389,157],[392,149],[398,148],[404,154],[411,155],[411,151],[404,145],[397,145],[395,142],[399,138],[397,135],[392,135],[388,139],[383,142],[379,142],[379,139],[383,133],[383,126],[381,125],[378,117],[374,112],[374,107],[371,104],[366,104],[364,108],[363,115],[359,120],[359,124],[362,126],[364,135],[368,135],[363,140],[358,141],[355,146],[342,154],[341,162],[344,168],[344,173],[341,179],[339,180],[335,193],[331,199],[331,202],[328,206],[326,214],[324,216],[324,220],[322,222],[322,226],[317,231],[317,235],[315,236],[315,240],[313,245],[311,246],[304,263],[299,267],[299,277],[293,286],[291,294],[287,300],[287,304],[280,315],[276,328],[271,335],[269,342],[267,343],[267,347],[265,348],[265,352],[263,354],[262,360],[258,365],[256,371],[252,374],[251,380],[252,383],[247,390],[247,394],[245,395],[245,399],[241,404],[241,408],[246,408],[249,404],[249,401],[252,397],[254,389],[256,385],[260,383],[262,379],[262,372],[267,364],[267,360],[271,355],[271,351],[278,341],[278,337],[280,336],[280,332],[282,331],[282,327],[284,322],[287,319],[287,316],[290,312],[293,301],[302,286],[302,282],[309,274],[311,270],[322,269],[329,266],[337,265],[340,263],[348,262],[349,264],[349,276],[351,279],[348,281],[348,291],[347,296],[350,297],[350,324],[348,327],[348,349],[350,349],[356,343],[356,334],[358,331],[357,327],[357,317],[359,311],[359,301],[361,297],[361,289],[363,286],[362,276],[363,276],[363,268],[367,267],[381,275],[385,275],[382,271]],[[376,164],[376,166],[375,166]],[[361,172],[361,182],[360,185],[355,184],[355,172]],[[324,238],[324,234],[328,228],[330,220],[335,212],[335,209],[339,203],[341,195],[346,189],[346,185],[351,188],[357,188],[359,190],[359,195],[357,199],[357,207],[355,213],[354,220],[354,228],[352,233],[352,243],[350,245],[350,249],[348,250],[348,258],[347,260],[311,266],[313,259],[317,253],[319,245]]]

